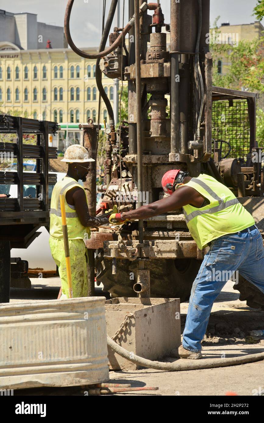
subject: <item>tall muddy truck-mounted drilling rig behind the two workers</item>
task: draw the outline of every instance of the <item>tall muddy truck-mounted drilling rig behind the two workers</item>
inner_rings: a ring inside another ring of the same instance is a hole
[[[256,142],[258,95],[212,86],[213,59],[207,41],[210,1],[170,0],[170,24],[166,24],[162,3],[168,1],[129,0],[129,22],[114,28],[105,49],[117,4],[113,0],[95,55],[74,46],[69,34],[73,0],[68,2],[66,38],[77,54],[97,58],[96,82],[109,115],[104,184],[98,187],[103,193],[100,213],[113,204],[125,210],[163,198],[167,194],[162,176],[177,168],[193,177],[207,173],[225,184],[264,229],[264,174],[261,161],[253,160],[261,157]],[[102,90],[102,73],[127,81],[127,119],[117,130]],[[223,114],[227,118],[236,114],[232,126],[236,142]],[[96,130],[94,125],[94,143]],[[189,299],[206,253],[192,239],[182,209],[127,222],[120,231],[99,228],[86,247],[91,258],[95,252],[97,283],[112,297],[179,297],[181,302]],[[90,273],[92,280],[93,260]],[[234,288],[247,305],[264,309],[263,294],[242,277]]]

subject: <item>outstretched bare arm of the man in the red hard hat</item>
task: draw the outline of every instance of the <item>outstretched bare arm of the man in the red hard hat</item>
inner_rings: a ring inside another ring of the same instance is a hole
[[[171,210],[179,209],[187,204],[193,204],[195,207],[201,207],[204,198],[192,187],[181,187],[169,197],[138,209],[122,213],[123,219],[147,219],[148,217],[158,216]]]

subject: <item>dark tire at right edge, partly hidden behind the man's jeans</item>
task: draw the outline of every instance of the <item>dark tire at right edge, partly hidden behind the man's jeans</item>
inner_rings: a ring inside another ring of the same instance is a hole
[[[244,277],[239,275],[233,288],[240,292],[240,301],[246,301],[248,307],[264,310],[264,294]]]

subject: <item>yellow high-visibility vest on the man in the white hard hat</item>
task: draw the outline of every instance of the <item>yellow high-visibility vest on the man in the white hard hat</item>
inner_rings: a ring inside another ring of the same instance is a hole
[[[52,236],[52,238],[63,239],[60,194],[63,194],[64,197],[68,238],[89,239],[91,236],[90,228],[86,228],[81,224],[75,209],[71,209],[67,204],[65,197],[66,192],[73,187],[79,187],[83,190],[83,187],[78,184],[75,179],[64,176],[64,178],[58,181],[53,188],[50,204],[50,236]]]

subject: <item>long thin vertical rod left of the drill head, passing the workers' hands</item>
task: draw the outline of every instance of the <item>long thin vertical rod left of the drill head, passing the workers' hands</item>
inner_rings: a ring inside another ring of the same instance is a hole
[[[136,99],[137,99],[137,192],[138,207],[142,206],[143,164],[142,164],[142,111],[141,111],[141,76],[140,76],[140,22],[139,3],[134,0],[135,8],[135,59],[136,59]],[[143,243],[143,220],[138,220],[138,238]]]

